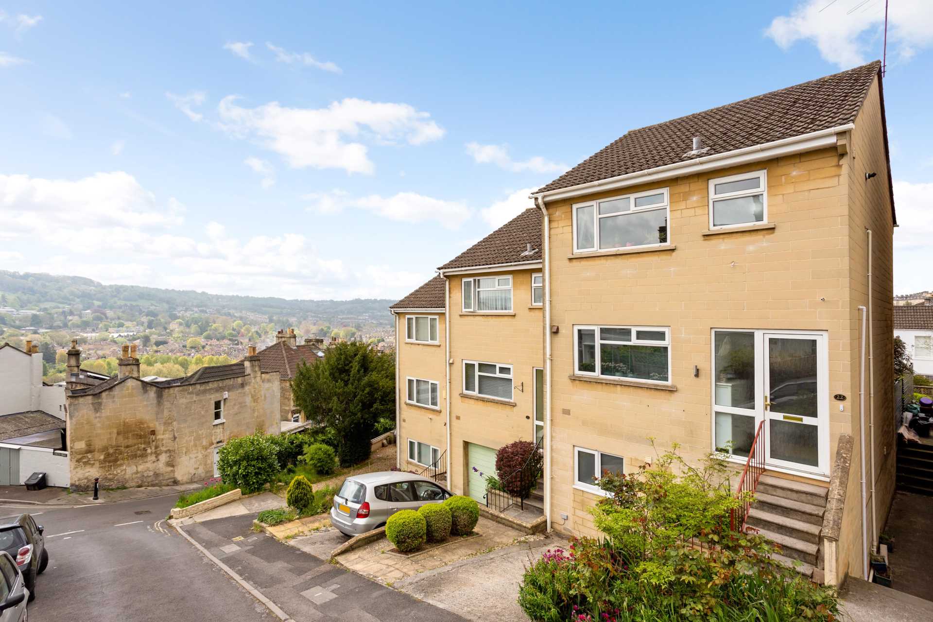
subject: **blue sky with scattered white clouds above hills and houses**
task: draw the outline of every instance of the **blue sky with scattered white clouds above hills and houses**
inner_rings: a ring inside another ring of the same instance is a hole
[[[0,268],[395,298],[627,130],[880,58],[884,0],[0,11]],[[933,287],[933,5],[890,18],[907,293]]]

